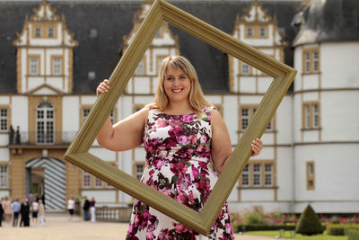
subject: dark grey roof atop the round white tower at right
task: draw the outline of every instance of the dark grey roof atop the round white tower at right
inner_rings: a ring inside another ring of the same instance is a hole
[[[298,34],[293,46],[359,40],[358,0],[311,0],[293,19]]]

